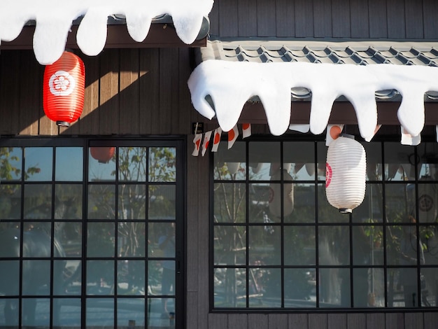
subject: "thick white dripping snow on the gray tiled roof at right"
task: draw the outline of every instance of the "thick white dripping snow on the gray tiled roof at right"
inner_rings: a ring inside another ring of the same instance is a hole
[[[236,125],[248,99],[257,96],[274,135],[288,130],[292,88],[311,91],[309,125],[313,134],[323,133],[334,101],[344,96],[355,109],[361,136],[370,141],[377,125],[379,90],[400,93],[400,125],[414,137],[421,133],[425,124],[424,97],[427,92],[438,91],[438,67],[209,59],[192,72],[188,86],[195,109],[206,118],[216,117],[224,131]]]

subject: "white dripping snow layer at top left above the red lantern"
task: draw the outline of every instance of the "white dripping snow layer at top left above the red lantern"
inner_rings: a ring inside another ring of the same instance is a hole
[[[13,41],[29,20],[36,21],[34,52],[41,64],[52,64],[64,51],[73,23],[84,16],[76,40],[85,55],[98,55],[106,42],[108,16],[125,15],[129,35],[141,42],[153,18],[171,15],[184,43],[195,41],[213,0],[14,0],[0,1],[0,40]]]

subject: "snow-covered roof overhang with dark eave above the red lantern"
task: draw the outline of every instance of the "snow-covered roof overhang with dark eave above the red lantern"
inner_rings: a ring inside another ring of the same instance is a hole
[[[213,0],[15,0],[0,2],[0,49],[33,48],[52,64],[66,48],[206,45]]]

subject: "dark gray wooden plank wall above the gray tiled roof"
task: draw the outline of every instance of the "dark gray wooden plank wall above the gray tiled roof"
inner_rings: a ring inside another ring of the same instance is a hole
[[[216,0],[211,36],[438,38],[436,0]]]

